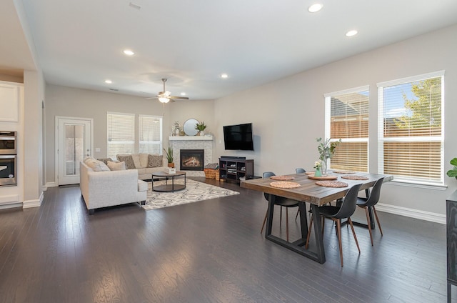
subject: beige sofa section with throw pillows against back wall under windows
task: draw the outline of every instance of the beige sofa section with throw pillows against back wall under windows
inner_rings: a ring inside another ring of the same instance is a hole
[[[131,163],[129,163],[129,158],[131,156]],[[150,167],[149,164],[149,154],[118,154],[116,156],[117,160],[126,162],[127,169],[138,171],[138,179],[141,180],[151,180],[151,174],[153,172],[164,172],[165,168],[168,167],[168,161],[166,157],[162,155],[151,155],[158,157],[159,163],[156,163],[156,167]],[[129,167],[130,166],[130,167]]]

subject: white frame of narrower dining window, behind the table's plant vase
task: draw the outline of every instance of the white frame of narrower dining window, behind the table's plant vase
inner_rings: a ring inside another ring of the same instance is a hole
[[[355,88],[352,88],[352,89],[344,89],[342,91],[334,91],[332,93],[328,93],[328,94],[324,94],[323,95],[324,98],[325,98],[325,130],[324,130],[325,138],[330,138],[330,136],[331,136],[331,97],[332,96],[339,96],[339,95],[342,95],[342,94],[359,93],[361,91],[368,91],[368,94],[369,94],[370,86],[369,85],[359,86],[359,87],[355,87]],[[370,96],[368,95],[368,103],[369,103],[369,99],[370,99]],[[369,115],[369,113],[368,113],[368,115]],[[368,125],[368,128],[369,128],[369,125]],[[338,139],[340,139],[340,138],[331,138],[331,141],[338,141]],[[341,142],[366,142],[366,146],[367,146],[366,158],[367,158],[367,170],[368,170],[368,172],[369,172],[369,169],[370,169],[370,166],[369,166],[369,163],[370,163],[370,158],[369,158],[369,156],[370,156],[369,139],[370,139],[369,129],[368,129],[368,137],[366,137],[366,138],[343,138],[343,139],[341,139]],[[336,149],[338,149],[338,147]],[[330,159],[330,162],[331,162],[331,159]],[[329,165],[328,167],[331,167],[331,163],[327,164],[327,165]]]

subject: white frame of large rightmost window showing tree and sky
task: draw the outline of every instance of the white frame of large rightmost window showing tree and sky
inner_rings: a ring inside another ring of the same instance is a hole
[[[426,79],[431,78],[438,78],[441,77],[441,136],[411,136],[409,138],[403,137],[384,137],[383,127],[384,127],[384,96],[383,96],[383,89],[386,86],[395,86],[401,84],[408,84],[411,82],[423,81]],[[418,179],[413,178],[401,178],[394,176],[394,182],[410,184],[411,186],[431,186],[431,187],[443,187],[444,186],[444,103],[445,103],[445,95],[444,95],[444,71],[435,71],[428,74],[421,74],[418,76],[409,76],[402,79],[396,79],[392,81],[384,81],[379,82],[376,84],[378,86],[378,172],[379,174],[384,174],[384,142],[390,141],[439,141],[441,142],[441,177],[440,180],[437,182],[427,182],[421,181]]]

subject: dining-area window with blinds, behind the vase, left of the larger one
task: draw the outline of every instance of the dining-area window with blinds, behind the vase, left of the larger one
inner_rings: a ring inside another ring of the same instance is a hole
[[[341,139],[331,169],[368,172],[368,86],[325,97],[326,138]]]

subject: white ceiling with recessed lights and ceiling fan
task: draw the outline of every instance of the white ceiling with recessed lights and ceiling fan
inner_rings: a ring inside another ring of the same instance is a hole
[[[319,1],[307,0],[8,1],[24,5],[46,83],[153,96],[168,78],[167,90],[190,99],[216,99],[457,23],[456,0],[321,0],[315,14],[307,9]],[[358,35],[346,37],[350,29]]]

